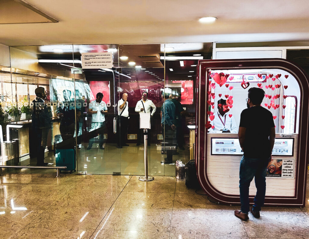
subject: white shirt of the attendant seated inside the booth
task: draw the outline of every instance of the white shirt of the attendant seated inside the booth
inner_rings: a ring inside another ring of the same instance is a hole
[[[220,115],[219,112],[214,113],[214,120],[210,120],[210,124],[214,125],[214,129],[210,128],[209,133],[222,133],[221,130],[223,128],[230,130],[231,133],[238,133],[238,127],[236,125],[234,116],[232,115],[232,117],[230,118],[229,112],[226,112],[223,116]]]

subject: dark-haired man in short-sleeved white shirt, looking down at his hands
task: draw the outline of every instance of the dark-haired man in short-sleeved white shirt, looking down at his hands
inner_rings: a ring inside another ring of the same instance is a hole
[[[104,95],[103,93],[99,92],[96,95],[96,99],[91,101],[89,104],[88,113],[92,114],[92,121],[91,121],[91,131],[97,130],[97,135],[99,135],[99,147],[100,149],[104,150],[104,133],[106,130],[105,124],[105,113],[107,113],[107,106],[104,101],[102,101]],[[89,144],[87,150],[90,150],[93,144],[93,140],[89,139]]]

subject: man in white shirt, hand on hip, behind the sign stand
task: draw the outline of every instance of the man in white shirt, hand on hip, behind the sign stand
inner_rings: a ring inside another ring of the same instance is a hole
[[[135,112],[138,112],[139,114],[150,113],[150,108],[152,108],[152,112],[151,112],[151,115],[150,115],[150,117],[152,118],[152,116],[155,114],[157,107],[155,106],[155,104],[151,100],[148,100],[147,97],[148,97],[148,93],[146,91],[144,91],[142,93],[142,99],[139,100],[137,102],[136,106],[135,106]],[[139,129],[138,133],[137,133],[137,144],[136,144],[136,146],[139,146],[141,144],[141,135],[142,135],[142,129]],[[148,138],[147,145],[148,146],[150,146],[150,135],[151,135],[150,129],[148,129],[147,130],[147,138]]]

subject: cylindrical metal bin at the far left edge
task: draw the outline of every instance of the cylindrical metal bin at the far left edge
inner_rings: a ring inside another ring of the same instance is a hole
[[[3,165],[19,165],[19,142],[3,141],[1,143]]]

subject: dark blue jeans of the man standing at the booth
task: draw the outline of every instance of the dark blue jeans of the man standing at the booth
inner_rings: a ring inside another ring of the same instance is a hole
[[[242,157],[239,167],[239,190],[241,211],[249,212],[249,186],[254,177],[256,186],[256,196],[254,198],[254,211],[261,211],[264,205],[266,191],[266,170],[269,159],[252,159]]]

